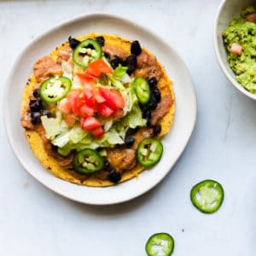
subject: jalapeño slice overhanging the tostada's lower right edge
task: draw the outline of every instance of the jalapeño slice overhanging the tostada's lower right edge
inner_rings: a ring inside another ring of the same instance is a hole
[[[137,147],[137,160],[145,167],[157,164],[163,154],[163,145],[153,137],[143,139]]]

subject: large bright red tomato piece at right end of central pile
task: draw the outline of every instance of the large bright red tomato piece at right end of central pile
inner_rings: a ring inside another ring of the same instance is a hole
[[[108,90],[107,88],[99,88],[101,96],[108,102],[108,106],[113,110],[125,107],[125,100],[117,90]]]

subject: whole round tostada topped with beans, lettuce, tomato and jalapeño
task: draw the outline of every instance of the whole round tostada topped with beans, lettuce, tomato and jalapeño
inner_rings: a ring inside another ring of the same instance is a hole
[[[148,49],[90,33],[35,62],[20,122],[49,172],[103,187],[159,162],[174,112],[172,81]]]

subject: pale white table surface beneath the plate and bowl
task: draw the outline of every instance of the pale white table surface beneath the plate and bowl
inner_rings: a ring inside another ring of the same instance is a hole
[[[166,38],[189,67],[198,101],[193,136],[165,180],[146,195],[108,207],[82,205],[44,188],[16,160],[2,122],[0,255],[139,256],[146,254],[148,237],[163,231],[175,239],[173,255],[255,255],[256,102],[233,89],[218,67],[212,23],[219,3],[0,2],[1,107],[9,69],[32,38],[98,11],[124,16]],[[223,206],[212,215],[189,200],[191,187],[206,178],[218,180],[225,191]]]

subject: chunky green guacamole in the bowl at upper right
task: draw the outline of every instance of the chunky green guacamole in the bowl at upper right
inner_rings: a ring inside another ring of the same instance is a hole
[[[231,20],[223,32],[230,67],[236,80],[248,91],[256,94],[256,23],[247,21],[247,15],[256,13],[253,6],[241,10],[241,16]],[[233,46],[241,51],[232,50]]]

